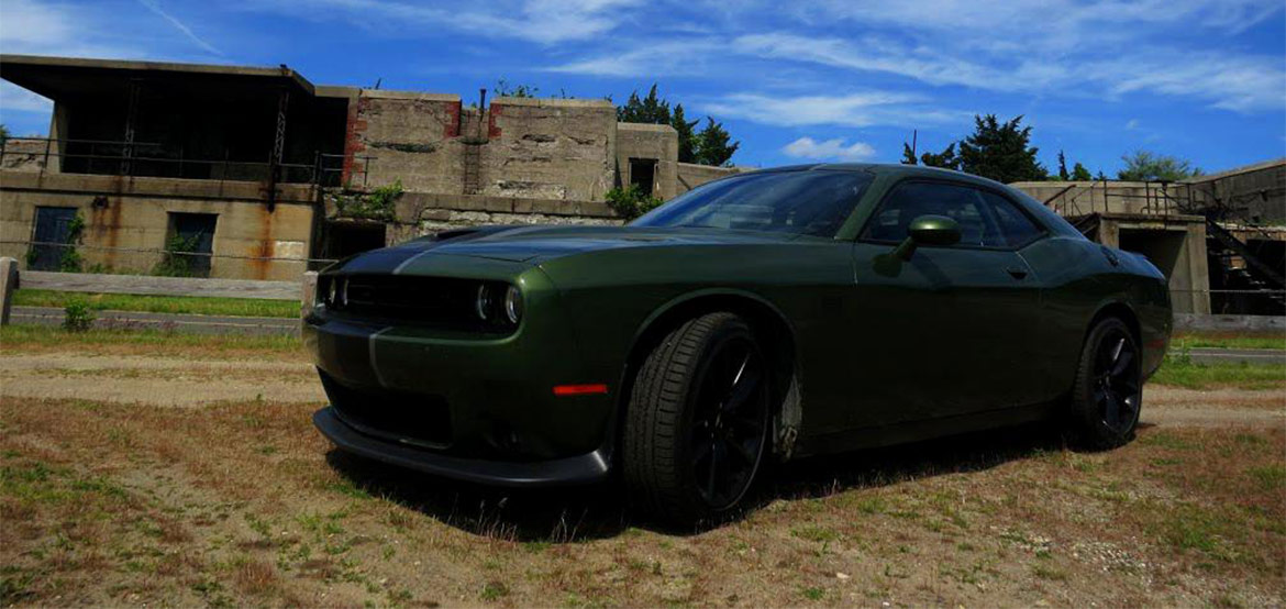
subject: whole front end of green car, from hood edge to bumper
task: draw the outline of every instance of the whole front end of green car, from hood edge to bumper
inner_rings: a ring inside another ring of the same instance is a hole
[[[585,378],[557,289],[532,263],[433,245],[318,278],[303,322],[331,401],[318,428],[347,451],[475,482],[603,478],[613,388]]]

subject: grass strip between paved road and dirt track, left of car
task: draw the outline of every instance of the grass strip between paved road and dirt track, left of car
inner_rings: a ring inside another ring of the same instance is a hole
[[[163,348],[197,348],[201,351],[265,351],[298,352],[300,337],[289,334],[186,334],[165,330],[66,331],[42,325],[0,326],[0,348],[69,347],[69,346],[138,346]]]

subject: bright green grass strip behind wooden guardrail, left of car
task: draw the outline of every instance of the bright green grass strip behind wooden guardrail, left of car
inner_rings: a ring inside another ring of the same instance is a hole
[[[195,296],[94,294],[87,292],[54,292],[19,289],[13,303],[22,307],[63,308],[84,301],[95,311],[143,311],[149,313],[228,315],[238,317],[298,317],[298,301],[265,301],[261,298],[213,298]]]

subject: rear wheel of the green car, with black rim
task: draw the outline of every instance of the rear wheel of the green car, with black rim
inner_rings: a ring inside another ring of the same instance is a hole
[[[1075,445],[1109,450],[1134,438],[1143,403],[1138,340],[1118,317],[1089,330],[1071,388],[1069,432]]]

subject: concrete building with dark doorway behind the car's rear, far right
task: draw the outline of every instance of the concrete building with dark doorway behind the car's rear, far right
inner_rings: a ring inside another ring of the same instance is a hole
[[[1286,159],[1181,182],[1012,186],[1092,239],[1147,254],[1177,312],[1286,315]]]

